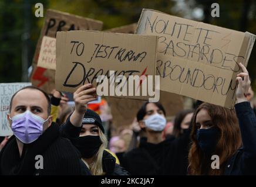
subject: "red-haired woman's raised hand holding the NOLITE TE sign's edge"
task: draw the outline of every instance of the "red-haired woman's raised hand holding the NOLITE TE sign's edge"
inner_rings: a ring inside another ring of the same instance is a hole
[[[238,81],[237,92],[236,92],[237,103],[247,101],[247,93],[251,85],[251,81],[250,81],[250,77],[247,69],[242,63],[239,63],[239,65],[242,68],[242,72],[240,72],[240,74],[238,74],[236,78]]]

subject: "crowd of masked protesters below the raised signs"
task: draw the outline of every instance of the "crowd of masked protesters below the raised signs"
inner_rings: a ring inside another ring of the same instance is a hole
[[[14,135],[1,137],[0,174],[255,175],[256,102],[240,66],[235,109],[197,101],[170,122],[161,103],[145,102],[130,126],[113,126],[107,101],[90,103],[92,84],[72,96],[22,88],[10,103]],[[43,168],[35,168],[36,155]]]

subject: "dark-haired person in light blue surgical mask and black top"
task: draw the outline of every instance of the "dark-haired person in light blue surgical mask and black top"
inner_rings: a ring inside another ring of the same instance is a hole
[[[177,140],[163,140],[166,112],[159,103],[146,102],[137,113],[137,120],[146,132],[146,140],[138,148],[124,154],[121,165],[132,175],[185,175],[189,131]]]

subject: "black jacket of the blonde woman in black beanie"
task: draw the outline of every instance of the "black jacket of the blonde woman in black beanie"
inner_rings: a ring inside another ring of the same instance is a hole
[[[60,134],[62,134],[63,137],[72,140],[73,138],[79,137],[81,129],[82,127],[73,126],[68,118],[66,123],[60,126]],[[124,168],[120,167],[119,164],[116,164],[116,158],[107,151],[103,152],[102,164],[103,172],[106,172],[106,175],[129,175]]]

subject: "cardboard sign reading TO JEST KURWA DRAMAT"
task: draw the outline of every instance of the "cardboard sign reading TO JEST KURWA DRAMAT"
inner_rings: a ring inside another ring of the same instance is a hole
[[[99,75],[104,75],[109,89],[106,88],[107,93],[103,96],[125,95],[132,99],[150,97],[148,93],[142,95],[141,89],[146,82],[144,79],[141,79],[142,84],[137,84],[136,87],[133,84],[130,88],[132,81],[129,82],[126,78],[131,75],[137,75],[138,80],[143,75],[151,77],[151,82],[146,86],[154,88],[157,36],[76,30],[58,32],[56,39],[55,82],[59,91],[74,92],[87,83],[92,83],[95,87],[103,85],[105,81],[101,84],[96,79]],[[118,75],[125,76],[119,80],[120,84],[117,84]],[[120,95],[117,94],[119,90],[122,90]],[[139,95],[136,95],[137,91]]]

